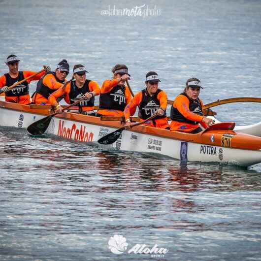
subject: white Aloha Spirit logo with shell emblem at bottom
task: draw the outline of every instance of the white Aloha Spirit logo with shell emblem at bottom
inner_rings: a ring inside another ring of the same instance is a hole
[[[128,243],[124,236],[116,234],[110,237],[108,241],[108,247],[112,253],[120,255],[127,251]],[[167,252],[168,249],[162,247],[160,248],[157,244],[155,244],[153,247],[147,246],[146,244],[136,244],[130,248],[128,254],[145,254],[151,255],[151,257],[155,258],[163,258]]]

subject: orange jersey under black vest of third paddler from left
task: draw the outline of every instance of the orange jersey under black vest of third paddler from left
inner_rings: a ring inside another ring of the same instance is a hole
[[[94,96],[97,96],[100,94],[100,89],[99,89],[99,85],[96,81],[90,81],[89,82],[89,90],[90,92],[92,92],[94,94]],[[69,93],[71,91],[71,83],[68,83],[66,86],[63,85],[62,87],[60,87],[57,91],[55,91],[54,93],[52,93],[49,98],[48,101],[51,105],[53,106],[57,106],[59,103],[57,102],[57,99],[60,98],[61,96],[65,96],[65,101],[70,104],[70,97],[69,97]],[[93,106],[84,106],[82,107],[83,111],[90,111],[93,110],[94,107]]]

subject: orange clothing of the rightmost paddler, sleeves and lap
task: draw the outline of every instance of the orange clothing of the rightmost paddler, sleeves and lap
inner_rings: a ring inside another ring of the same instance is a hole
[[[202,100],[200,100],[201,106],[203,107]],[[190,111],[190,101],[184,95],[179,95],[173,102],[173,107],[176,108],[186,119],[194,122],[199,122],[203,127],[206,127],[205,123],[202,122],[204,116],[200,116]],[[170,130],[179,130],[184,132],[191,132],[196,130],[199,124],[189,124],[186,122],[172,121],[170,123]]]

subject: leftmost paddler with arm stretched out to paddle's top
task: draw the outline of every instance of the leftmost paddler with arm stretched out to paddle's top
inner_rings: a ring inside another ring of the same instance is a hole
[[[20,59],[16,55],[11,54],[7,57],[5,64],[8,66],[9,72],[0,76],[0,88],[1,91],[5,93],[5,101],[29,104],[31,102],[29,95],[29,83],[31,81],[39,80],[44,73],[49,72],[51,68],[50,66],[43,65],[45,71],[36,74],[22,84],[8,90],[9,86],[36,73],[35,71],[19,71],[19,62]]]

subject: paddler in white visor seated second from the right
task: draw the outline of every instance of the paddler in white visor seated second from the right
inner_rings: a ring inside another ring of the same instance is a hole
[[[130,112],[135,111],[138,106],[138,116],[142,120],[146,120],[155,113],[158,115],[156,118],[146,122],[145,125],[169,130],[166,117],[167,95],[159,89],[160,81],[155,71],[149,71],[146,74],[146,89],[137,93],[124,110],[126,129],[129,129],[132,125],[130,123]]]

